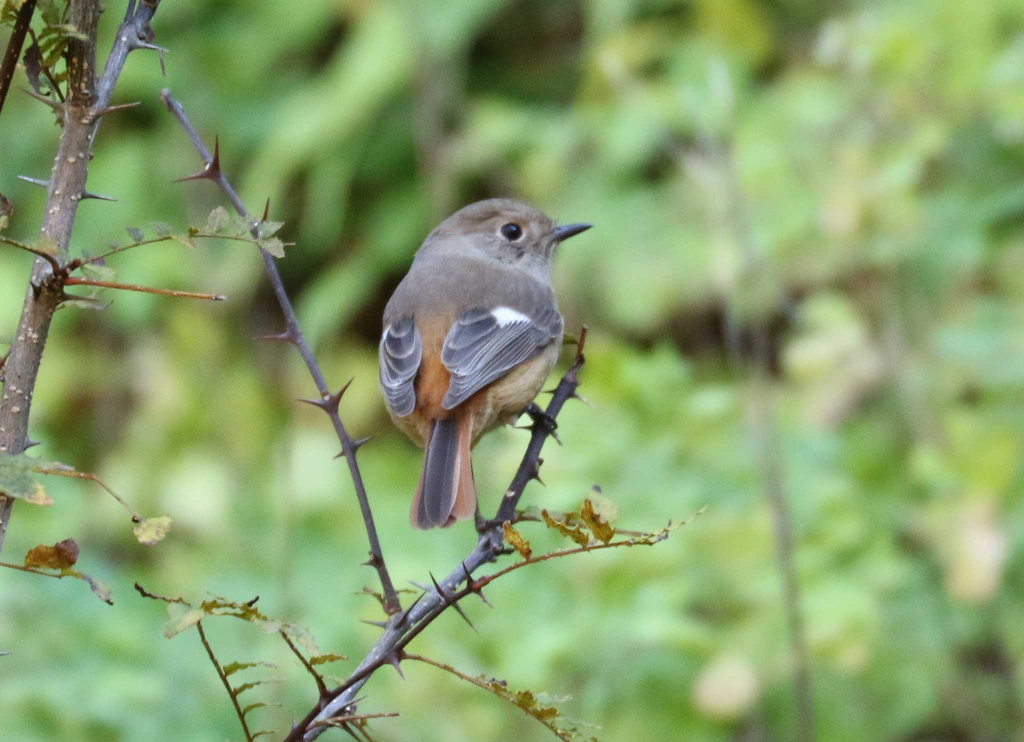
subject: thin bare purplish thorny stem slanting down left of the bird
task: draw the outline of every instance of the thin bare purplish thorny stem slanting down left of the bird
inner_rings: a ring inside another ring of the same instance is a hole
[[[234,210],[243,219],[249,219],[250,214],[246,209],[245,204],[239,198],[239,194],[231,187],[230,182],[220,170],[220,147],[219,143],[214,146],[214,151],[211,155],[210,150],[207,149],[206,145],[203,143],[202,137],[196,131],[196,128],[191,125],[188,117],[185,115],[184,110],[181,104],[174,99],[171,95],[170,90],[164,90],[160,97],[167,103],[167,107],[170,108],[181,125],[184,127],[185,131],[188,133],[193,144],[199,151],[200,157],[203,158],[205,167],[202,171],[197,173],[195,176],[189,176],[188,179],[200,179],[205,178],[215,182],[220,189],[227,197],[227,200],[234,207]],[[259,238],[259,225],[260,223],[266,221],[267,211],[269,209],[269,202],[267,202],[266,208],[263,210],[263,218],[259,221],[253,223],[252,234],[253,237]],[[352,484],[355,488],[355,496],[359,501],[359,510],[362,512],[362,520],[367,527],[367,537],[370,540],[370,561],[368,564],[377,570],[377,575],[381,582],[381,590],[384,594],[385,610],[388,615],[395,616],[401,612],[401,604],[398,601],[398,594],[394,590],[394,584],[391,582],[391,575],[388,574],[387,565],[384,563],[384,555],[381,552],[380,539],[377,537],[377,526],[374,525],[374,515],[370,510],[370,499],[367,496],[367,489],[362,483],[362,474],[359,472],[359,465],[355,460],[355,452],[358,450],[359,446],[366,443],[369,439],[361,438],[359,440],[353,440],[349,436],[348,431],[345,429],[344,424],[341,422],[341,416],[338,413],[338,405],[341,402],[341,397],[348,389],[348,382],[344,387],[342,387],[337,393],[332,394],[330,387],[328,387],[327,380],[324,378],[324,373],[321,370],[319,363],[316,362],[316,357],[313,355],[312,350],[309,348],[309,344],[306,343],[305,336],[302,334],[302,330],[299,328],[299,320],[295,316],[295,310],[292,308],[292,302],[288,298],[288,294],[285,292],[285,286],[281,280],[281,273],[278,272],[278,266],[274,263],[273,256],[270,255],[266,250],[260,248],[260,256],[263,258],[263,267],[266,269],[267,277],[270,280],[270,286],[273,288],[273,294],[278,299],[278,304],[281,306],[281,311],[285,315],[285,332],[280,336],[275,336],[275,339],[287,341],[292,343],[296,348],[299,349],[299,353],[302,355],[302,360],[305,361],[306,368],[309,369],[309,375],[313,379],[313,383],[316,385],[316,390],[319,392],[319,399],[308,400],[312,404],[315,404],[331,419],[331,424],[334,426],[335,433],[338,435],[338,440],[341,443],[341,452],[345,456],[345,462],[348,464],[348,473],[352,478]]]

